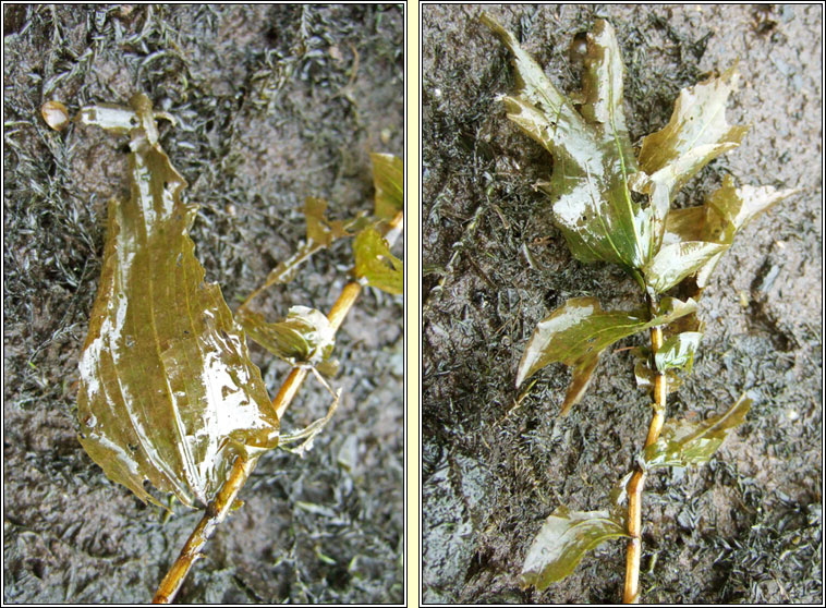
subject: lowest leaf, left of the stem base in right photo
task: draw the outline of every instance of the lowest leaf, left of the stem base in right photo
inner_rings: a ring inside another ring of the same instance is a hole
[[[573,572],[585,554],[609,538],[627,537],[625,525],[609,511],[559,507],[545,520],[522,567],[524,586],[542,591]]]

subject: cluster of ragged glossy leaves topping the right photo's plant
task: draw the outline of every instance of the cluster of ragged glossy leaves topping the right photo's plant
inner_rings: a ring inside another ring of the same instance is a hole
[[[554,156],[550,182],[537,185],[554,200],[554,221],[578,259],[619,264],[653,295],[693,275],[702,288],[734,232],[794,192],[734,191],[727,178],[706,211],[670,211],[677,192],[749,129],[726,120],[736,66],[683,89],[669,123],[643,138],[637,165],[622,111],[622,58],[607,21],[596,20],[587,35],[583,89],[569,99],[511,33],[489,15],[481,20],[514,56],[518,86],[503,98],[508,118]],[[647,195],[648,205],[635,203],[632,191]]]

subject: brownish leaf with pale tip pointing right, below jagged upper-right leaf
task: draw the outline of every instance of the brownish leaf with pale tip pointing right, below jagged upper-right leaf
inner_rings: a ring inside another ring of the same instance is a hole
[[[722,185],[708,196],[703,206],[675,209],[668,215],[663,248],[692,241],[718,244],[720,251],[700,264],[695,270],[697,287],[704,288],[720,256],[733,243],[737,232],[756,216],[795,192],[798,191],[778,191],[772,186],[737,189],[731,177],[726,175]]]

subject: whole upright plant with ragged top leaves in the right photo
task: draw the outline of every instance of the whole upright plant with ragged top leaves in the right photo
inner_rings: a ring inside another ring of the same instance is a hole
[[[704,205],[672,209],[678,191],[703,167],[737,147],[748,130],[725,118],[737,86],[736,66],[683,89],[669,123],[635,150],[622,110],[623,65],[611,25],[597,20],[587,36],[583,88],[566,97],[512,34],[488,15],[482,21],[514,57],[518,88],[503,98],[508,118],[554,157],[549,182],[554,222],[581,262],[621,266],[641,289],[645,306],[603,309],[595,297],[575,297],[539,321],[519,364],[517,386],[551,363],[571,367],[562,414],[582,398],[600,353],[618,340],[647,331],[636,348],[635,375],[652,396],[652,421],[634,469],[599,511],[559,507],[545,521],[525,558],[525,586],[544,589],[570,574],[583,556],[609,538],[627,538],[623,600],[640,600],[642,494],[659,466],[708,461],[743,422],[751,400],[741,397],[724,414],[701,423],[666,421],[667,396],[690,373],[703,325],[696,300],[734,234],[757,214],[794,191],[737,187],[730,177]],[[667,295],[681,289],[691,297]]]

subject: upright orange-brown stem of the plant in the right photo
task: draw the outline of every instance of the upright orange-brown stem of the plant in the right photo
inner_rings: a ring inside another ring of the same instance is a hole
[[[652,357],[663,345],[663,330],[655,327],[651,330]],[[654,443],[663,430],[666,419],[666,396],[668,394],[668,379],[654,367],[654,416],[648,426],[648,436],[645,439],[647,448]],[[645,486],[646,472],[637,464],[636,471],[628,483],[628,554],[625,556],[625,586],[622,594],[624,604],[640,603],[640,557],[642,555],[642,501],[643,487]]]

